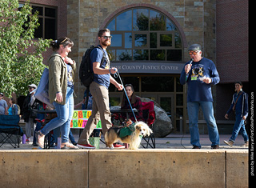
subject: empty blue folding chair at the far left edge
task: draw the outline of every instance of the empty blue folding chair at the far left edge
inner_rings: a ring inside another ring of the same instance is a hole
[[[18,125],[19,120],[19,115],[0,115],[0,147],[7,142],[14,148],[19,147],[20,136],[24,134]]]

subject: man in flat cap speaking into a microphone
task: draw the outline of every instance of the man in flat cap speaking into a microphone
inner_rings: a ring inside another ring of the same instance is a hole
[[[219,148],[218,127],[214,118],[213,97],[211,85],[219,82],[218,71],[210,59],[202,57],[202,49],[198,44],[189,47],[191,61],[186,62],[180,77],[182,85],[188,85],[187,90],[187,113],[190,124],[190,143],[193,149],[200,149],[198,131],[198,110],[202,108],[202,113],[206,120],[211,148]]]

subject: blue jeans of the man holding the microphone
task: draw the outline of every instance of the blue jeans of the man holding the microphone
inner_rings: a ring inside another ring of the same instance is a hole
[[[202,108],[203,116],[208,127],[211,146],[219,145],[218,127],[214,118],[213,102],[187,102],[187,112],[190,122],[190,143],[201,148],[198,131],[198,111]]]

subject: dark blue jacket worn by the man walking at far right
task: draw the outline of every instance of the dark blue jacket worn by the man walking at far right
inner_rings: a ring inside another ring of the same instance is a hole
[[[242,94],[238,98],[238,94],[240,94],[241,92],[242,92]],[[227,110],[226,114],[230,114],[230,112],[233,109],[234,102],[236,102],[237,98],[238,98],[238,102],[235,105],[235,114],[239,115],[241,117],[246,116],[246,118],[247,118],[247,116],[248,116],[248,94],[246,94],[243,91],[240,91],[239,93],[236,92],[235,94],[233,94],[233,100],[231,102],[230,109]]]

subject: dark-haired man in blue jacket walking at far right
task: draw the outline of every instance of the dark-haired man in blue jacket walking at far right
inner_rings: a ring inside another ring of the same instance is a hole
[[[235,122],[234,122],[234,128],[232,131],[232,136],[230,137],[230,140],[226,141],[224,140],[224,143],[226,143],[229,146],[234,145],[235,139],[238,137],[238,133],[242,134],[242,137],[245,141],[244,147],[249,146],[249,138],[246,133],[246,126],[245,121],[248,116],[248,94],[242,90],[242,82],[235,82],[234,83],[234,90],[235,93],[233,94],[233,99],[230,105],[230,109],[227,110],[225,114],[225,118],[229,119],[229,114],[231,111],[234,111],[235,114]]]

